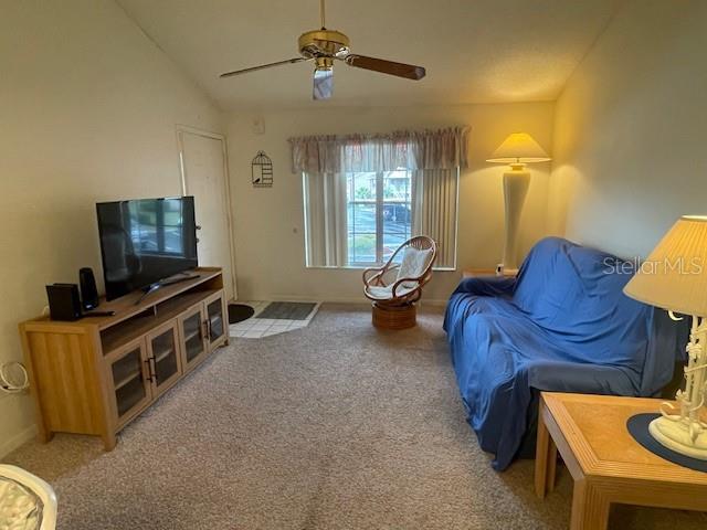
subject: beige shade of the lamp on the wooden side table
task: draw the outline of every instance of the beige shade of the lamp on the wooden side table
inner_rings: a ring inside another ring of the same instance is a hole
[[[707,216],[680,218],[623,292],[663,309],[707,316]]]

